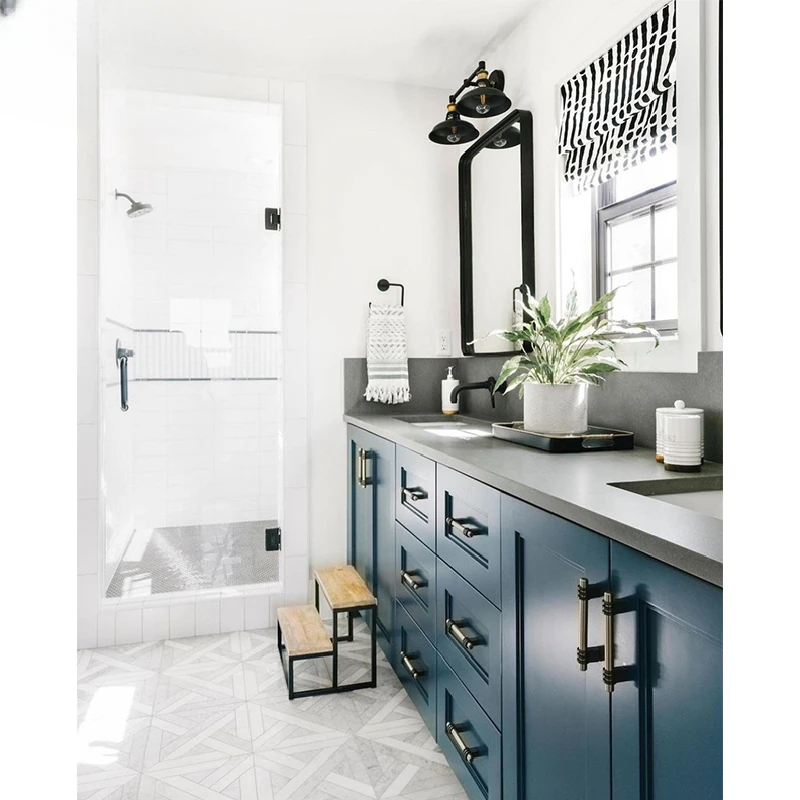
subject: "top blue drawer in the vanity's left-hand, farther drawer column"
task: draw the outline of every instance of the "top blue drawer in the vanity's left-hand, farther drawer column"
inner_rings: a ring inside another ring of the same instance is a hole
[[[436,463],[397,448],[397,521],[431,550],[436,549]]]

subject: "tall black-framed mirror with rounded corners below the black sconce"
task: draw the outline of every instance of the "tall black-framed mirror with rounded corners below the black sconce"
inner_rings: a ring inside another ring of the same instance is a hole
[[[474,342],[514,321],[518,287],[536,292],[533,247],[533,116],[517,109],[483,134],[458,162],[461,351],[497,356],[503,339]]]

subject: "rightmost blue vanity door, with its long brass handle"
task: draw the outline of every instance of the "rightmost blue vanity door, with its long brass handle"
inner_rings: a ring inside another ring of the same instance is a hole
[[[722,798],[722,590],[611,544],[614,800]]]

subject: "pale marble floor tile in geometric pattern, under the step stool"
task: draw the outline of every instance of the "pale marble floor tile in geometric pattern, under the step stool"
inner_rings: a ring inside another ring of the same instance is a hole
[[[369,669],[355,634],[343,681]],[[78,743],[80,800],[466,800],[380,649],[375,689],[290,702],[275,629],[81,651]]]

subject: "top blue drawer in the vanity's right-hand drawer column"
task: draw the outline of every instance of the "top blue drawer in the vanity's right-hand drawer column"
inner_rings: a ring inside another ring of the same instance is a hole
[[[500,492],[436,468],[436,554],[500,608]]]

